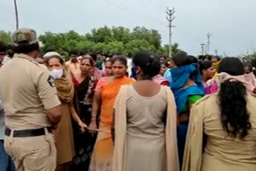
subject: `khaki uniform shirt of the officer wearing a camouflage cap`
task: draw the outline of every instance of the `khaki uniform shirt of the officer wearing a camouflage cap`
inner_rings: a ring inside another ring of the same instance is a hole
[[[15,54],[0,70],[0,93],[6,126],[34,129],[50,126],[46,109],[61,104],[46,67],[26,54]]]

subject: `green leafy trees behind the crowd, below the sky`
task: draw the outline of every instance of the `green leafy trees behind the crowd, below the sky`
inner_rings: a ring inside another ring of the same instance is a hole
[[[9,38],[9,39],[8,39]],[[0,40],[10,42],[10,33],[0,31]],[[93,51],[102,54],[131,55],[138,50],[153,51],[158,54],[168,54],[168,46],[161,46],[161,35],[158,30],[148,30],[145,27],[135,27],[129,30],[125,27],[101,27],[91,30],[88,34],[78,34],[74,30],[54,34],[46,32],[39,36],[41,51],[57,51],[69,58],[70,51]],[[177,52],[178,44],[174,44],[173,53]]]

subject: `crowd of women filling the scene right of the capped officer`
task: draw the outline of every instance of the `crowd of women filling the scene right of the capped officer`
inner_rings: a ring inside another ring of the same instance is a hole
[[[238,58],[142,51],[130,74],[122,55],[37,61],[64,108],[56,170],[256,170],[256,82]]]

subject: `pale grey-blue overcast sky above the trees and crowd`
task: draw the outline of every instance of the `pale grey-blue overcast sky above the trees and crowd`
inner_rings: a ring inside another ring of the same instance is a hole
[[[101,26],[145,26],[169,42],[166,7],[175,8],[173,42],[188,54],[201,52],[210,33],[210,53],[238,56],[256,50],[255,0],[17,0],[20,27],[43,34]],[[0,0],[0,30],[14,31],[14,1]]]

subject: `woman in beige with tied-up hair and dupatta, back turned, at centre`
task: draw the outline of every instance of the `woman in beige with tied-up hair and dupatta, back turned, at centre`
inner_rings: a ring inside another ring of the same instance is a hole
[[[123,85],[114,105],[113,171],[178,171],[174,95],[152,78],[160,63],[149,52],[134,54],[138,80]]]

